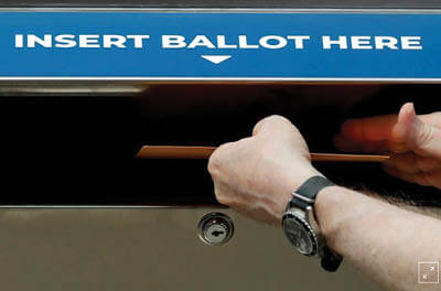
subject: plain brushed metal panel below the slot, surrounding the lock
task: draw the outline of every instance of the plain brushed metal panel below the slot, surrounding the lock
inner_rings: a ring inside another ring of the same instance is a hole
[[[14,290],[358,290],[290,248],[280,229],[238,217],[233,239],[196,236],[208,209],[2,209],[0,279]]]

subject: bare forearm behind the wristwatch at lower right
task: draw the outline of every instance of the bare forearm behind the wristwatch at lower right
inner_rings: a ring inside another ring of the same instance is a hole
[[[432,217],[337,186],[319,194],[316,215],[329,246],[390,290],[421,290],[418,262],[441,260],[441,220]]]

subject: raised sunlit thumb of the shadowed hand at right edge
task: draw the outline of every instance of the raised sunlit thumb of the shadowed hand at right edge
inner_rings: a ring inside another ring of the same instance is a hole
[[[412,151],[422,157],[441,159],[441,130],[424,123],[415,112],[411,103],[401,107],[394,136],[405,140]]]

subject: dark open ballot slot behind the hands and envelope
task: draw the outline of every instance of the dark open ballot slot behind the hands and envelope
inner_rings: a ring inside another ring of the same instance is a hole
[[[217,147],[250,136],[269,115],[290,119],[310,150],[347,118],[440,109],[439,85],[160,84],[136,96],[53,93],[0,98],[0,204],[216,205],[206,160],[140,160],[144,144]],[[386,175],[379,162],[315,163],[336,183],[431,204],[434,191]],[[37,194],[36,194],[37,193]]]

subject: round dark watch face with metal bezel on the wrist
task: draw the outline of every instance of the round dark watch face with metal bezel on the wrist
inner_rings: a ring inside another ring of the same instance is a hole
[[[316,252],[316,238],[308,223],[294,215],[283,219],[283,230],[291,244],[303,255],[313,256]]]

